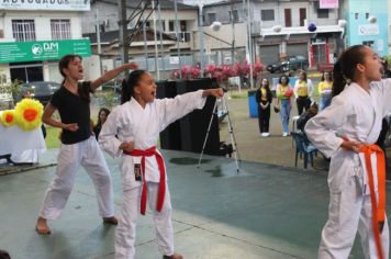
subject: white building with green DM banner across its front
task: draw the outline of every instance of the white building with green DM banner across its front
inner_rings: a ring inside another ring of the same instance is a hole
[[[91,54],[81,37],[80,12],[87,1],[1,1],[0,83],[62,81],[58,59],[66,54]]]

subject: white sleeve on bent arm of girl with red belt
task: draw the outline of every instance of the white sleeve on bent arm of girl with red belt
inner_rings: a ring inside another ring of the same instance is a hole
[[[108,120],[103,124],[99,134],[99,144],[101,148],[111,157],[118,157],[122,153],[120,149],[122,142],[116,138],[120,119],[119,115],[120,110],[114,109],[114,111],[109,114]]]

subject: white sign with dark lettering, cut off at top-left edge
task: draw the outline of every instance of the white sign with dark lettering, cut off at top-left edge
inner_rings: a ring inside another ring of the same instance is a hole
[[[0,0],[1,10],[90,11],[90,0]]]

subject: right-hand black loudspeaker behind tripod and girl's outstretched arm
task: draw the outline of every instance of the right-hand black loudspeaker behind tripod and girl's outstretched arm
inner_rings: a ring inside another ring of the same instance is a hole
[[[210,78],[180,80],[176,83],[177,94],[212,88],[219,88],[219,85],[215,79]],[[194,110],[179,120],[181,150],[192,153],[202,151],[202,145],[206,136],[215,102],[215,98],[209,97],[202,110]],[[216,114],[213,114],[204,153],[209,155],[219,155],[220,153],[219,119]]]

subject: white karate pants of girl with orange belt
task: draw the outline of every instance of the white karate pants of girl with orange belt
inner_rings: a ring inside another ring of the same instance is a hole
[[[328,221],[322,232],[320,259],[348,258],[356,233],[361,237],[366,259],[378,258],[372,228],[372,206],[364,195],[362,180],[353,177],[340,193],[329,194]],[[367,187],[368,188],[368,187]],[[389,258],[389,226],[386,217],[381,234],[384,258]]]

